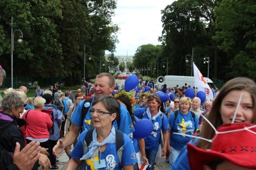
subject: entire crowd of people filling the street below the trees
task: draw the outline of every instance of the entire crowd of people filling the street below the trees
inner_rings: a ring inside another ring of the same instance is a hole
[[[5,71],[0,66],[1,77]],[[176,97],[163,102],[153,87],[143,92],[144,84],[138,92],[126,92],[111,74],[101,73],[94,84],[90,75],[84,78],[74,98],[70,89],[61,92],[57,83],[49,90],[37,86],[34,101],[27,98],[24,86],[5,90],[0,112],[1,169],[38,169],[39,165],[44,170],[58,169],[56,158],[63,151],[70,158],[67,170],[139,170],[142,164],[153,170],[161,156],[166,156],[171,170],[256,168],[255,134],[247,131],[256,131],[255,82],[234,78],[213,100],[205,101],[186,97],[185,84],[169,87],[166,93]],[[148,137],[136,139],[134,126],[142,119],[149,119],[153,130]],[[247,132],[241,133],[243,128]],[[216,131],[232,131],[232,142]],[[240,136],[246,139],[245,146],[237,142]],[[242,151],[235,152],[236,147]],[[223,152],[230,148],[235,148],[232,155]]]

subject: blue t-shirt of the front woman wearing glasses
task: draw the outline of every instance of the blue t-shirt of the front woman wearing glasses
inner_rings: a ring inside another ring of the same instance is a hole
[[[81,133],[81,135],[78,139],[78,142],[76,144],[76,147],[74,148],[74,150],[72,150],[72,152],[70,154],[70,158],[73,157],[76,159],[80,159],[84,155],[82,143],[84,142],[86,133],[87,133],[87,131],[84,131]],[[86,151],[86,153],[87,152],[88,152],[88,150]],[[108,143],[104,152],[102,152],[100,155],[100,151],[99,151],[94,160],[91,160],[90,158],[86,159],[85,164],[84,164],[84,169],[87,169],[87,170],[95,169],[94,161],[99,160],[99,159],[105,160],[106,167],[99,168],[98,170],[121,170],[118,154],[116,152],[116,144],[115,143]],[[130,138],[127,135],[124,134],[124,150],[122,152],[122,164],[123,164],[123,166],[126,166],[126,165],[130,165],[130,164],[134,164],[136,162],[138,162],[138,159],[137,159],[135,150],[133,148],[132,141],[130,140]]]

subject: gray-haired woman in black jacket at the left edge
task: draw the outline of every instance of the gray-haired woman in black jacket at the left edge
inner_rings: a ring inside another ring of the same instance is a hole
[[[24,100],[18,92],[8,92],[2,100],[2,111],[0,112],[0,146],[8,152],[14,152],[16,142],[20,144],[20,150],[25,147],[24,136],[19,127],[25,124],[25,121],[17,118],[18,114],[24,108]],[[50,161],[47,156],[41,154],[39,158],[45,170],[48,170]],[[38,162],[34,165],[32,170],[38,169]]]

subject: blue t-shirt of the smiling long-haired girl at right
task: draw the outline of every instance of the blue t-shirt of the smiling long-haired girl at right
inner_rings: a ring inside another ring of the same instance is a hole
[[[189,143],[196,146],[200,139],[195,139],[194,141],[190,140]],[[171,166],[170,170],[190,170],[188,163],[188,150],[187,145],[183,147],[180,151],[179,156]]]

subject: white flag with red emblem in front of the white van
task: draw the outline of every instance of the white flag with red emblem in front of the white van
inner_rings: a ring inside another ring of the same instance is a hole
[[[198,91],[203,91],[206,95],[206,98],[210,98],[210,100],[212,100],[213,94],[212,94],[212,90],[210,89],[210,86],[204,80],[204,76],[198,70],[198,68],[194,62],[193,62],[193,66],[194,66],[195,87],[197,87]],[[202,102],[204,102],[204,101],[202,101]]]

